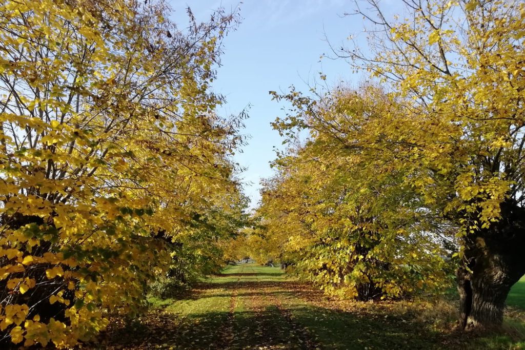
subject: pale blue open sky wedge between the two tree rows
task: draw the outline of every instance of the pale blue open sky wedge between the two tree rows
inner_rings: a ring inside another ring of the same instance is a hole
[[[340,46],[349,35],[364,39],[360,17],[344,17],[352,12],[353,2],[344,0],[203,0],[178,2],[171,0],[174,18],[179,24],[184,19],[184,8],[190,6],[198,20],[206,20],[213,9],[240,6],[242,23],[224,40],[222,67],[214,90],[224,94],[227,104],[221,113],[238,113],[251,105],[243,131],[251,138],[244,152],[235,155],[236,162],[247,167],[242,174],[245,193],[255,207],[259,200],[259,181],[269,177],[269,162],[274,160],[273,146],[281,147],[277,131],[270,122],[283,116],[284,102],[271,101],[268,91],[287,91],[292,84],[301,91],[309,89],[319,78],[327,75],[327,82],[334,86],[344,80],[351,86],[358,78],[344,60],[322,59],[330,52],[325,40]],[[363,42],[364,43],[364,42]]]

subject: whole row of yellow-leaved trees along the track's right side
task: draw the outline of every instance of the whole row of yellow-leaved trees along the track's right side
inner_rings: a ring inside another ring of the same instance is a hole
[[[362,86],[272,92],[290,147],[258,214],[274,254],[329,293],[432,291],[457,267],[461,325],[491,327],[525,273],[525,4],[404,5],[358,3],[369,48],[334,49]]]

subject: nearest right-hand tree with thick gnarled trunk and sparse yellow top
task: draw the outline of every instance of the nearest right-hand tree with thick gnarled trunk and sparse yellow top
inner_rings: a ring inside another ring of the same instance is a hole
[[[342,146],[375,149],[402,169],[403,184],[427,210],[459,228],[460,323],[498,326],[525,273],[525,4],[404,0],[408,15],[398,20],[377,1],[366,3],[356,13],[373,26],[372,54],[358,45],[336,53],[384,84],[393,108],[361,134],[346,133],[352,121],[342,128],[328,120],[317,131]]]

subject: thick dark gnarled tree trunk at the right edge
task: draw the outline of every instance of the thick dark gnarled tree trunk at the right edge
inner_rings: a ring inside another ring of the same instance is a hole
[[[460,325],[497,328],[512,285],[525,274],[525,209],[510,200],[501,220],[465,240],[466,266],[457,272]]]

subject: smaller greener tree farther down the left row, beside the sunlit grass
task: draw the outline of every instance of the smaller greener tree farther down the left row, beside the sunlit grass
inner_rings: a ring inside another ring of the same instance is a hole
[[[243,229],[248,225],[245,213],[247,198],[240,188],[226,187],[217,193],[219,203],[200,208],[185,227],[162,235],[171,262],[167,271],[158,275],[151,293],[161,298],[174,298],[191,288],[206,275],[218,273],[235,258],[233,250],[242,242]]]

